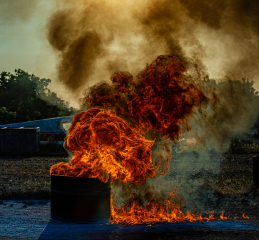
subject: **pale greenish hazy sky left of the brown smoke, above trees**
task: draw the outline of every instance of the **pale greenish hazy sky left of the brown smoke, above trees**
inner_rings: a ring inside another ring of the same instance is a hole
[[[50,78],[51,90],[76,105],[56,81],[57,53],[47,35],[48,18],[56,9],[52,0],[0,0],[0,71],[15,69]]]

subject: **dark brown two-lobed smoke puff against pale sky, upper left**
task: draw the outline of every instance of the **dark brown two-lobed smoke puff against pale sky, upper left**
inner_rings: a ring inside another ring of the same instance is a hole
[[[69,10],[53,15],[49,22],[48,40],[54,49],[60,51],[58,78],[75,92],[92,73],[103,49],[100,35],[95,30],[84,29],[82,20],[73,15]],[[86,26],[90,25],[87,21],[89,19],[83,22]]]

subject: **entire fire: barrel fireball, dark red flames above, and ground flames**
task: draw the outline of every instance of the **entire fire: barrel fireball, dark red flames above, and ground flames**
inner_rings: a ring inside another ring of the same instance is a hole
[[[73,152],[70,163],[51,167],[50,174],[67,177],[98,178],[102,182],[142,184],[147,178],[165,175],[157,173],[161,162],[153,165],[151,147],[155,141],[147,140],[147,131],[160,133],[158,138],[175,139],[181,132],[181,124],[194,109],[201,110],[206,103],[201,87],[186,77],[184,62],[177,56],[160,56],[133,81],[130,73],[112,75],[112,85],[102,83],[90,89],[84,104],[92,107],[75,115],[66,137],[65,148]],[[99,107],[113,108],[107,111]],[[127,123],[116,113],[127,119]],[[166,149],[165,155],[171,154]],[[158,159],[161,156],[158,155]],[[184,214],[180,206],[171,200],[165,204],[153,198],[147,206],[139,206],[132,200],[124,207],[113,206],[112,223],[152,224],[155,222],[182,222],[216,219],[213,212],[208,217]],[[243,215],[243,218],[248,218]],[[217,220],[229,219],[223,216]],[[237,217],[234,219],[238,219]]]

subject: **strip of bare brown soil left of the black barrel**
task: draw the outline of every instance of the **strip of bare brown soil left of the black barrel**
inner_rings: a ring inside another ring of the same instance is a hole
[[[0,199],[50,199],[50,167],[67,157],[1,157]]]

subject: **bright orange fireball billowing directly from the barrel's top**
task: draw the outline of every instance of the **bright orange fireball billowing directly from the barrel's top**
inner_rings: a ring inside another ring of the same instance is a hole
[[[50,173],[141,184],[155,175],[153,143],[114,111],[92,108],[76,114],[71,123],[66,139],[66,148],[73,152],[71,162],[52,166]]]

